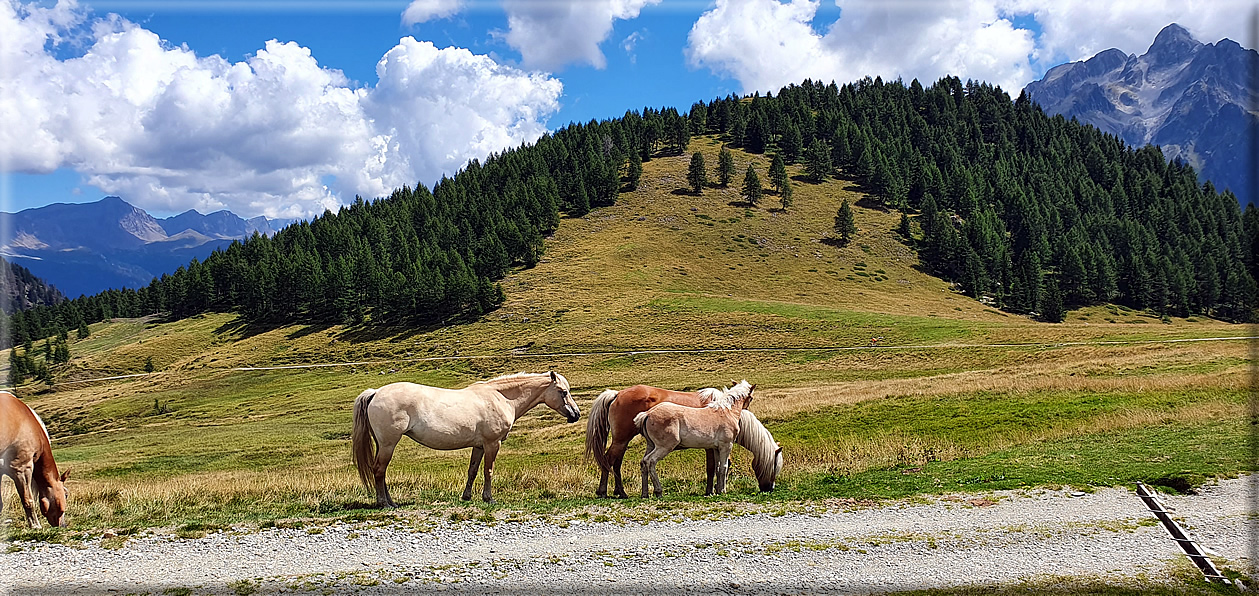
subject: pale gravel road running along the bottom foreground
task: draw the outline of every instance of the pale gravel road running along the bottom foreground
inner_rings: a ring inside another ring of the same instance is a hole
[[[1259,529],[1253,480],[1163,496],[1236,571]],[[870,593],[1066,576],[1143,586],[1187,564],[1127,489],[567,527],[404,518],[9,549],[0,587],[10,593]]]

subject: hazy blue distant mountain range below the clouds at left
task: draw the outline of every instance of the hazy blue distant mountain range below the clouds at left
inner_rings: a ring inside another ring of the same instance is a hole
[[[274,234],[292,221],[243,219],[220,210],[188,210],[156,219],[117,197],[96,203],[54,203],[0,213],[10,231],[0,255],[57,286],[67,296],[147,286],[193,258],[205,258],[234,239]]]

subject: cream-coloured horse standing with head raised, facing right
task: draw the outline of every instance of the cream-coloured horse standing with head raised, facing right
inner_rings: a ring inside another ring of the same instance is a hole
[[[483,457],[481,498],[494,503],[490,490],[494,459],[511,425],[539,403],[577,422],[582,413],[568,389],[568,379],[551,372],[506,374],[462,389],[390,383],[364,391],[354,401],[354,430],[350,432],[359,479],[368,490],[375,485],[376,505],[397,507],[385,485],[385,469],[405,435],[432,449],[472,447],[463,500],[472,498],[472,481]]]

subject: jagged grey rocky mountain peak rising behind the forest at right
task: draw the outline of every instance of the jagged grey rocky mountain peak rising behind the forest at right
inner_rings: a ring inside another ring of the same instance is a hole
[[[1171,24],[1142,54],[1108,49],[1084,62],[1051,68],[1026,87],[1047,113],[1075,117],[1129,145],[1162,146],[1168,159],[1194,165],[1202,181],[1229,189],[1241,204],[1250,195],[1246,168],[1250,64],[1259,59],[1231,39],[1202,44]]]

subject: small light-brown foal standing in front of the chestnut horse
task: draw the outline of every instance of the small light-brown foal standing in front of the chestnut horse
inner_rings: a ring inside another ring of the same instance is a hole
[[[752,403],[757,386],[747,381],[723,392],[721,397],[701,408],[661,403],[633,417],[633,426],[647,440],[647,454],[642,457],[642,496],[647,498],[647,479],[662,494],[656,464],[675,449],[705,449],[714,452],[716,489],[705,494],[725,493],[726,475],[730,473],[730,449],[739,433],[739,418]],[[710,483],[711,484],[711,483]]]

